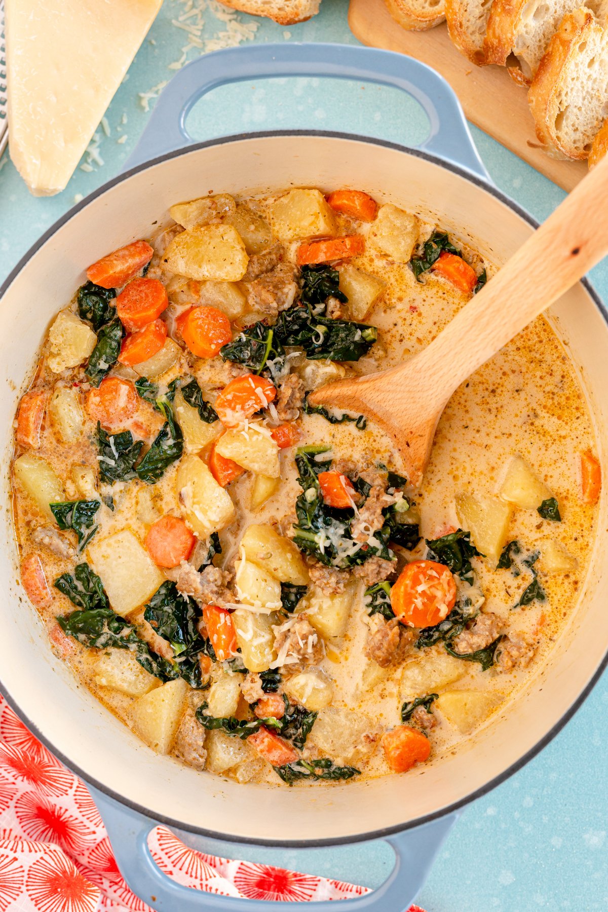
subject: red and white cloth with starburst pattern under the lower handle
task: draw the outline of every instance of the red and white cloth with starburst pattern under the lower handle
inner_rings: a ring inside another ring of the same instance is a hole
[[[250,899],[348,899],[367,893],[271,865],[202,855],[157,826],[149,848],[184,886]],[[150,912],[119,874],[88,789],[0,697],[0,912]],[[244,907],[246,912],[246,905]],[[423,912],[412,906],[409,912]]]

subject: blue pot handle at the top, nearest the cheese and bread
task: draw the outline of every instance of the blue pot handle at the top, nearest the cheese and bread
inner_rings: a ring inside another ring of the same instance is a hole
[[[401,88],[425,109],[428,138],[416,147],[489,181],[459,99],[446,80],[413,57],[372,47],[269,44],[229,47],[192,60],[162,90],[125,171],[196,142],[186,119],[212,88],[244,79],[310,76],[358,79]]]

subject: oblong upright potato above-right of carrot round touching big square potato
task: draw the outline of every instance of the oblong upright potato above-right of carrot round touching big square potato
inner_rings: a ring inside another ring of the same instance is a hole
[[[186,522],[199,538],[232,523],[234,504],[198,456],[185,456],[177,472],[177,493]]]

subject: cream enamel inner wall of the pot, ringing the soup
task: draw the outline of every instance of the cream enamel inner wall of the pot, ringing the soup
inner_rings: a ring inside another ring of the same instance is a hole
[[[605,533],[593,545],[579,606],[541,672],[500,716],[454,755],[403,776],[334,787],[239,785],[195,772],[141,743],[55,658],[46,630],[18,585],[10,522],[12,421],[46,326],[65,306],[83,268],[147,237],[171,203],[207,192],[250,194],[291,186],[362,187],[378,201],[435,213],[503,263],[531,223],[499,192],[458,168],[375,140],[272,134],[202,144],[109,183],[81,203],[17,267],[2,299],[0,403],[5,523],[0,547],[0,679],[26,724],[57,756],[119,801],[181,829],[231,839],[302,845],[395,832],[465,803],[517,769],[580,703],[603,667],[608,644]],[[599,303],[577,285],[551,320],[580,372],[603,451],[608,427],[608,326]],[[606,528],[603,493],[599,521]]]

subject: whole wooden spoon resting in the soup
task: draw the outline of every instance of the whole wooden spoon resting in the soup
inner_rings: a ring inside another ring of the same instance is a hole
[[[438,337],[396,368],[315,389],[313,405],[363,412],[397,445],[418,484],[448,399],[485,361],[608,253],[608,156]]]

